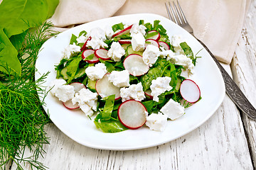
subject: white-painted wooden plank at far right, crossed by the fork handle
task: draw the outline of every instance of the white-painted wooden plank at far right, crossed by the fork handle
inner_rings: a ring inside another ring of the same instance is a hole
[[[230,66],[236,83],[250,100],[252,106],[256,107],[256,1],[252,1],[250,5],[235,50],[235,57]],[[256,122],[245,115],[242,115],[242,120],[250,146],[252,162],[256,167]]]

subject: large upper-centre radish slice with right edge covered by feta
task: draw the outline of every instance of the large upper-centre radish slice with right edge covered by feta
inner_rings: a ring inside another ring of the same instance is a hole
[[[136,77],[149,71],[149,66],[143,62],[142,56],[136,54],[128,55],[124,59],[124,68],[128,70],[129,74]]]

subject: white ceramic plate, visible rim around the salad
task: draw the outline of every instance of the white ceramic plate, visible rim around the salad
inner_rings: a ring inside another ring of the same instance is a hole
[[[50,38],[43,44],[42,50],[38,55],[36,79],[48,71],[50,71],[50,74],[43,85],[48,86],[50,81],[55,79],[55,65],[63,57],[62,51],[69,44],[72,33],[78,35],[81,30],[89,32],[91,28],[100,27],[104,29],[105,26],[112,26],[120,22],[137,23],[140,19],[143,19],[145,23],[153,23],[154,20],[160,20],[161,25],[166,28],[169,37],[175,34],[182,35],[192,48],[194,54],[203,49],[198,54],[201,58],[197,60],[193,76],[193,80],[196,81],[201,89],[202,99],[190,108],[187,108],[186,114],[183,117],[174,121],[169,120],[164,132],[149,130],[149,128],[144,126],[138,130],[126,130],[111,134],[97,129],[93,121],[87,118],[79,109],[77,111],[70,111],[57,98],[48,94],[45,98],[46,106],[44,109],[50,114],[50,120],[65,135],[68,135],[68,137],[81,145],[112,150],[142,149],[161,145],[198,128],[215,113],[223,101],[225,96],[223,77],[203,46],[186,30],[169,21],[169,19],[149,13],[116,16],[85,23],[60,33],[56,38]]]

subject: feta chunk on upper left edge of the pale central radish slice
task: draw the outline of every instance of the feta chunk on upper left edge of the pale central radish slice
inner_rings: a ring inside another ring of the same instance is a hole
[[[95,66],[90,66],[85,69],[87,77],[91,80],[102,79],[102,77],[107,73],[107,67],[103,63],[95,64]]]

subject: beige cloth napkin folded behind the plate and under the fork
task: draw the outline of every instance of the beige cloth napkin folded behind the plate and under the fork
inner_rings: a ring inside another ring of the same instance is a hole
[[[218,60],[230,63],[251,0],[179,0],[194,35]],[[167,18],[164,0],[60,0],[50,20],[56,27],[129,13],[155,13]]]

